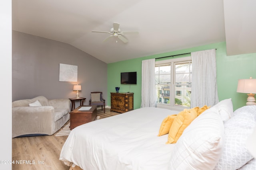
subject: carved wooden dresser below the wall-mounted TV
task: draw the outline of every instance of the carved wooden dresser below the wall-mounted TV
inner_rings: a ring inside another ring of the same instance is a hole
[[[133,110],[133,93],[110,93],[111,109],[118,113],[124,113]]]

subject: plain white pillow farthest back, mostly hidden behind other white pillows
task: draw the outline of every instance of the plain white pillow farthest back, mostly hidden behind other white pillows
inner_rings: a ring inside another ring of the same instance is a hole
[[[233,116],[233,104],[231,98],[222,100],[212,107],[218,108],[220,117],[223,121],[227,121]]]

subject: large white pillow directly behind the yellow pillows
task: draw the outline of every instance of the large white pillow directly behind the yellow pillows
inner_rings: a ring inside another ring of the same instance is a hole
[[[223,138],[224,125],[218,109],[207,109],[178,139],[169,170],[212,170],[221,156]]]

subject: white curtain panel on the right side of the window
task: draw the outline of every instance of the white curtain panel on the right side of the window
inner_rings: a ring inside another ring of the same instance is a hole
[[[218,103],[216,80],[216,49],[191,53],[192,93],[191,108]]]

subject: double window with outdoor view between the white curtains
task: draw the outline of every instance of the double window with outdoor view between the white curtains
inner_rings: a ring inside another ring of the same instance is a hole
[[[158,106],[190,107],[191,57],[156,61],[155,80]]]

